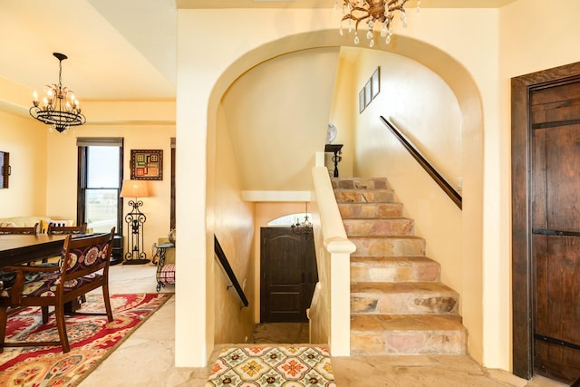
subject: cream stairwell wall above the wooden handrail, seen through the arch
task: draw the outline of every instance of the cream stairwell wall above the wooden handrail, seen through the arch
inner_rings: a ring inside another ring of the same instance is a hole
[[[461,116],[449,85],[420,63],[397,54],[360,50],[357,66],[355,89],[350,94],[358,95],[377,66],[381,67],[381,92],[362,114],[354,115],[355,173],[379,176],[372,173],[389,170],[399,160],[399,156],[394,156],[400,148],[398,142],[391,141],[393,136],[377,120],[383,116],[455,186],[462,174]]]

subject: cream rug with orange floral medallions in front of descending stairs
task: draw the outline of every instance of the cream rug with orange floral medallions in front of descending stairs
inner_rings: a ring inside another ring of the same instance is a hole
[[[336,387],[323,347],[237,347],[219,354],[206,387]]]

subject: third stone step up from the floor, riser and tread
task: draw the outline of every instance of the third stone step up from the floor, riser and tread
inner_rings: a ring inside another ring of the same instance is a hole
[[[427,256],[351,256],[351,282],[432,282],[440,264]]]

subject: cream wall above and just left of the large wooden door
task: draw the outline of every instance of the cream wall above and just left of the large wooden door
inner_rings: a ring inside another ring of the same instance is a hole
[[[494,170],[498,172],[498,217],[489,222],[498,227],[500,238],[493,254],[502,256],[497,272],[488,271],[488,276],[500,276],[510,284],[511,280],[511,92],[513,77],[534,73],[580,61],[580,52],[575,49],[580,36],[580,2],[576,0],[554,0],[550,9],[553,17],[546,15],[546,3],[539,0],[518,0],[500,10],[499,41],[499,88],[500,124],[493,130],[496,153],[493,157]],[[541,28],[537,28],[541,25]],[[512,301],[508,298],[508,301]],[[521,300],[513,300],[518,302]],[[492,310],[496,300],[486,300],[486,311]],[[511,307],[511,305],[510,305]],[[492,334],[498,321],[492,320],[487,332]],[[511,342],[511,337],[508,338]]]

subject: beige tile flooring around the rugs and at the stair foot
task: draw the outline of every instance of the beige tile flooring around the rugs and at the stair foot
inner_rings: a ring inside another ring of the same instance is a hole
[[[111,266],[111,293],[155,292],[155,266]],[[162,292],[173,292],[166,286]],[[81,383],[98,386],[202,387],[206,368],[176,368],[174,359],[175,303],[171,298]],[[290,339],[304,337],[304,326],[280,325]],[[252,341],[281,337],[273,325],[258,325]],[[285,340],[285,339],[281,339]],[[218,356],[218,346],[209,366]],[[351,356],[332,359],[337,387],[497,386],[559,387],[565,384],[536,377],[527,382],[509,372],[488,370],[469,356]]]

